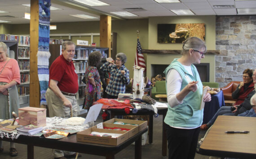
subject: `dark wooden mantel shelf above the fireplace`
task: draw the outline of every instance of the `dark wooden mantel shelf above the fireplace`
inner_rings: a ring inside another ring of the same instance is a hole
[[[146,54],[181,54],[181,50],[142,50]],[[220,50],[207,50],[206,54],[220,54]]]

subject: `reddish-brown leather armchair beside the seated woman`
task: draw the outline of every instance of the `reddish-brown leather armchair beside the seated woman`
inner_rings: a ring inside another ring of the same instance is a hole
[[[221,88],[221,90],[223,91],[224,100],[234,100],[234,101],[236,101],[236,99],[232,98],[232,92],[234,92],[234,90],[237,88],[237,86],[239,84],[240,84],[239,81],[232,81],[227,86]]]

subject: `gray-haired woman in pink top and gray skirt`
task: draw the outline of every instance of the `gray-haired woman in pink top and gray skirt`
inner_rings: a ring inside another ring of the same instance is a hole
[[[7,56],[7,46],[0,42],[0,119],[13,118],[12,112],[18,114],[19,97],[17,84],[20,84],[20,69],[18,62]],[[14,142],[11,142],[10,155],[17,156]],[[0,152],[3,152],[3,142],[0,140]]]

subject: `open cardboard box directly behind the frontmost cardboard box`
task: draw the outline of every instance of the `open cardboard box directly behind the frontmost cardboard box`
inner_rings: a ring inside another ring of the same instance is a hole
[[[118,125],[118,124],[112,124],[112,123],[105,123],[104,122],[103,127],[130,129],[128,131],[129,138],[131,138],[135,134],[139,133],[139,126],[136,126],[136,125]],[[97,125],[93,126],[92,128],[97,128]],[[114,130],[114,131],[119,131],[119,130]]]

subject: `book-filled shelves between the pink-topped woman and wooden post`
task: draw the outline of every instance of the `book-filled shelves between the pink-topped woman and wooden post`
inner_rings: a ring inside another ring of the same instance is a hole
[[[18,36],[17,56],[21,83],[18,85],[20,107],[29,106],[29,83],[30,83],[30,37]]]

